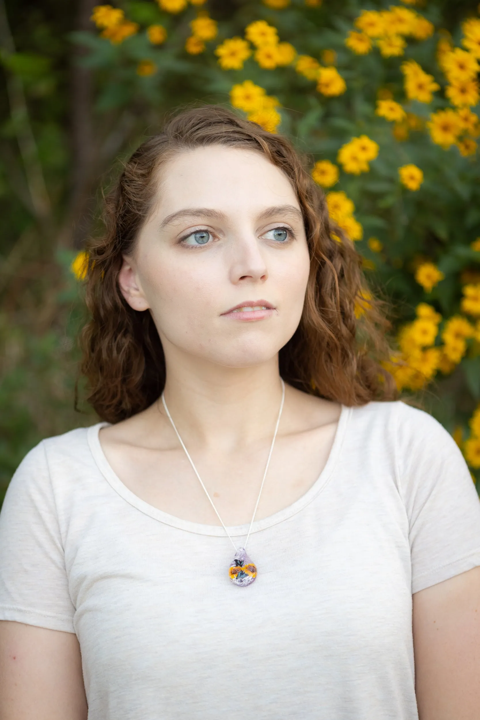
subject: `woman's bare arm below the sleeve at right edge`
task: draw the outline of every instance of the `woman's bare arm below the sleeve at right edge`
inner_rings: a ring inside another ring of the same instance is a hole
[[[413,595],[420,720],[480,718],[480,567]]]

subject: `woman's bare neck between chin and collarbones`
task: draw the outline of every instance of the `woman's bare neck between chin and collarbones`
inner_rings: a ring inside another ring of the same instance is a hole
[[[271,438],[282,394],[278,356],[246,368],[166,356],[166,370],[164,397],[184,441],[230,451]],[[161,400],[157,407],[165,412]]]

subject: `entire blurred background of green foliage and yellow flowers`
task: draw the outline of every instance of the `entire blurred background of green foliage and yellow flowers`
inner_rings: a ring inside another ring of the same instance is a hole
[[[467,0],[392,2],[143,0],[94,9],[81,0],[76,18],[53,0],[7,7],[4,485],[40,438],[94,421],[72,408],[83,310],[68,268],[96,231],[96,197],[114,158],[171,109],[198,101],[232,102],[310,156],[368,284],[391,301],[399,387],[453,433],[479,480],[479,12]],[[368,295],[358,312],[368,312]]]

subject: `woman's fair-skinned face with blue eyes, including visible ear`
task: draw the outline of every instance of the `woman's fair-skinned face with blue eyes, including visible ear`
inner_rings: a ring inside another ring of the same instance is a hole
[[[174,347],[246,367],[276,357],[294,334],[308,276],[289,180],[260,153],[214,145],[163,166],[119,284],[131,307],[152,312],[167,363]]]

